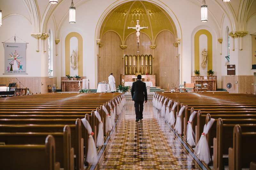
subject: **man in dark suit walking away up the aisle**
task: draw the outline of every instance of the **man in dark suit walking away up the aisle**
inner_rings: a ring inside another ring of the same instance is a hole
[[[145,103],[148,102],[148,93],[146,83],[141,81],[141,75],[137,76],[137,81],[132,83],[132,100],[134,101],[136,122],[143,119],[143,103],[145,98]]]

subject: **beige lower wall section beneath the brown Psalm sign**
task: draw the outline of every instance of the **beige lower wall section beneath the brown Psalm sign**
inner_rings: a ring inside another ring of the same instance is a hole
[[[227,88],[227,84],[231,83],[230,93],[255,93],[254,92],[254,76],[222,76],[221,86]],[[236,83],[237,81],[237,83]]]

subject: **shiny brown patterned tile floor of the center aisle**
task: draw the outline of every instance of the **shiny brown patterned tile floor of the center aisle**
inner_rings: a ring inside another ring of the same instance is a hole
[[[144,103],[143,121],[140,122],[135,122],[133,104],[127,101],[95,169],[197,169],[152,102]]]

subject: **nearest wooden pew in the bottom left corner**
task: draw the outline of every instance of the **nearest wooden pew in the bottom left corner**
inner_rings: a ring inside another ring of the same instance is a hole
[[[41,145],[0,145],[0,165],[4,170],[59,170],[54,137],[47,136]]]

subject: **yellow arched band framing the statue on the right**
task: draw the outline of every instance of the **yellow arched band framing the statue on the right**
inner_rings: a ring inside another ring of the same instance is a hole
[[[199,52],[199,37],[200,35],[205,34],[207,36],[207,66],[208,70],[212,69],[212,34],[207,30],[199,30],[195,34],[194,44],[195,44],[195,70],[200,69],[199,57],[201,56],[201,52]]]

